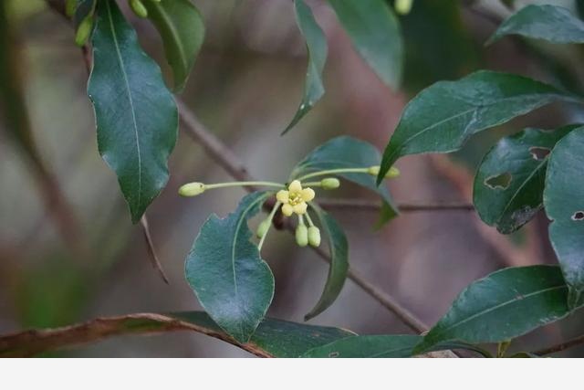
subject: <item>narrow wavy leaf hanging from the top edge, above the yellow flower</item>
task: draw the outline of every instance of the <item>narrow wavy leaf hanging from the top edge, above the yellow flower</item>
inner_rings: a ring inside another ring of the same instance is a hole
[[[308,111],[312,110],[314,105],[325,94],[325,87],[322,81],[322,72],[325,69],[327,62],[328,46],[327,37],[318,26],[317,21],[312,15],[312,11],[303,0],[295,0],[294,8],[296,10],[297,25],[300,28],[300,33],[307,42],[308,48],[308,70],[307,78],[304,85],[304,97],[300,102],[300,106],[294,118],[287,125],[287,128],[282,134],[287,133],[290,129],[296,126]]]

